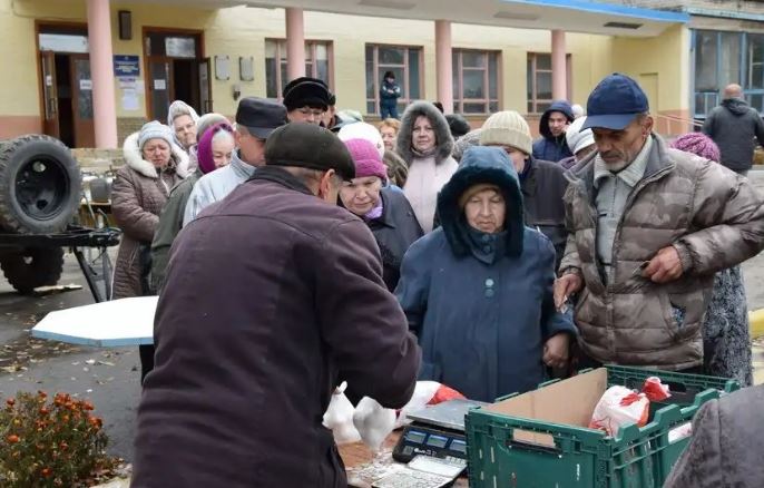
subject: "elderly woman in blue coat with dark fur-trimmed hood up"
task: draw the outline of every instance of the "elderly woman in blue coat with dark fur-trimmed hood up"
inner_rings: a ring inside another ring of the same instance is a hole
[[[395,294],[422,348],[420,379],[474,400],[535,389],[576,329],[555,309],[555,248],[526,227],[507,154],[473,147],[438,197],[441,227],[403,257]]]

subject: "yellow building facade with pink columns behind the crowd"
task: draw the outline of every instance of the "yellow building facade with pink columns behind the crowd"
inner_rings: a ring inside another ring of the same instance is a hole
[[[351,2],[332,0],[242,3],[0,0],[7,67],[0,138],[46,133],[71,147],[116,147],[146,120],[165,120],[174,99],[232,116],[241,97],[278,98],[291,75],[302,72],[325,79],[339,109],[370,119],[379,113],[386,70],[402,85],[402,104],[450,100],[447,111],[476,125],[511,109],[536,126],[554,98],[585,105],[613,71],[641,84],[664,133],[687,129],[698,108],[717,101],[709,94],[734,79],[735,69],[751,78],[752,100],[764,98],[757,35],[732,27],[718,33],[686,12],[580,0],[564,8],[566,2],[508,0],[511,8],[498,12],[487,0],[466,7],[474,12],[458,10],[469,2],[431,0],[396,13],[381,11],[381,1],[346,9]],[[449,16],[438,11],[451,7]],[[462,18],[469,22],[457,21]],[[735,42],[738,65],[721,55]],[[301,61],[296,67],[291,53]],[[116,118],[114,135],[108,114]]]

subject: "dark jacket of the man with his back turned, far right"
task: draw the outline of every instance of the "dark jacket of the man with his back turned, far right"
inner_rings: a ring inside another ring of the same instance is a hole
[[[718,163],[733,172],[751,169],[756,139],[764,146],[762,117],[739,98],[727,98],[711,110],[703,133],[719,147],[722,160]]]

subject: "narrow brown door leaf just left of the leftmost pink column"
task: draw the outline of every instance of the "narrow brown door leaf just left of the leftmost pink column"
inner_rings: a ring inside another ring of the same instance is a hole
[[[75,145],[95,147],[92,121],[92,78],[88,55],[71,55],[71,111],[75,125]]]

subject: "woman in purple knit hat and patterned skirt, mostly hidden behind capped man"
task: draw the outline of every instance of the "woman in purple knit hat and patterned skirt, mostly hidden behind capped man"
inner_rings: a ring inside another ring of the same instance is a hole
[[[716,144],[702,133],[679,136],[675,149],[719,162]],[[741,266],[719,271],[714,276],[714,291],[703,324],[703,362],[707,374],[733,378],[751,385],[751,336],[748,308]]]

